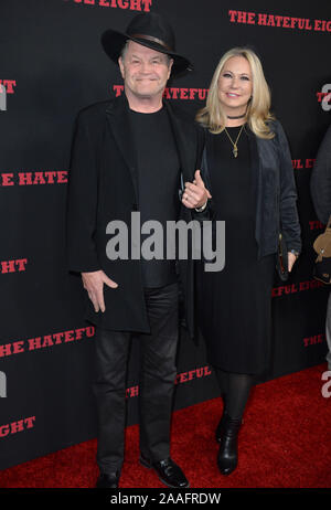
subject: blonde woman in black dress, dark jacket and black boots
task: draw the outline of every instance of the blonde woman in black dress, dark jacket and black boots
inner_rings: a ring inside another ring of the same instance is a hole
[[[221,59],[197,121],[215,220],[225,220],[225,267],[199,270],[200,326],[223,396],[216,429],[223,475],[237,466],[237,436],[252,385],[270,354],[270,307],[279,223],[291,270],[300,249],[288,142],[270,114],[258,56],[235,47]],[[202,266],[201,266],[202,268]]]

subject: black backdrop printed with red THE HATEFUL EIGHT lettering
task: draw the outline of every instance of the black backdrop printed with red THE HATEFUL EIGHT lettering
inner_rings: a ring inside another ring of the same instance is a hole
[[[65,266],[70,149],[77,111],[120,93],[119,72],[99,35],[110,26],[125,29],[139,10],[167,15],[178,50],[195,64],[167,92],[192,115],[204,105],[226,50],[250,45],[259,54],[273,110],[290,141],[303,236],[290,280],[284,285],[275,276],[274,355],[266,379],[320,363],[327,352],[328,289],[311,275],[311,243],[322,225],[309,179],[330,123],[330,105],[321,102],[322,87],[331,83],[329,1],[289,7],[284,0],[1,0],[0,84],[7,109],[0,110],[0,371],[7,397],[0,400],[0,468],[96,434],[94,329],[83,320],[81,280]],[[137,417],[136,358],[134,344],[128,423]],[[203,344],[190,343],[184,331],[178,365],[175,408],[217,395]]]

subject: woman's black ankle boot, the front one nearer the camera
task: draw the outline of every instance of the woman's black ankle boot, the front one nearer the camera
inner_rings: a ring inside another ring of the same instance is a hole
[[[229,475],[238,464],[238,432],[242,419],[233,419],[224,416],[222,425],[221,445],[217,456],[217,465],[222,475]]]

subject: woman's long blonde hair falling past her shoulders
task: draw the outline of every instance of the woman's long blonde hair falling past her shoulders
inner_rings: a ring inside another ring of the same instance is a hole
[[[226,115],[218,99],[218,77],[225,63],[233,56],[243,56],[250,65],[253,76],[253,97],[247,106],[247,124],[252,131],[260,138],[274,138],[274,132],[267,125],[274,120],[270,114],[270,89],[266,82],[260,60],[248,47],[233,47],[228,50],[218,62],[210,85],[206,106],[197,111],[196,120],[214,135],[218,135],[226,126]]]

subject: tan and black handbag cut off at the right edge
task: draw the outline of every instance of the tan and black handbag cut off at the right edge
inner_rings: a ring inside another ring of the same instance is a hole
[[[313,249],[318,254],[314,261],[312,275],[323,284],[331,284],[331,216],[323,234],[320,234],[313,243]]]

